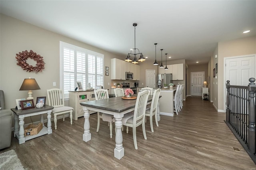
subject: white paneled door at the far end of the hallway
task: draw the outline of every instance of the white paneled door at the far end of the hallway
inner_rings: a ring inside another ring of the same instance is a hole
[[[202,96],[203,85],[204,85],[204,71],[191,72],[191,95]]]

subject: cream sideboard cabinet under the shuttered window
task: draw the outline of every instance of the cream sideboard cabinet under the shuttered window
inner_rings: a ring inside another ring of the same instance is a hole
[[[68,91],[69,92],[69,106],[74,108],[73,111],[73,119],[77,120],[78,117],[84,116],[83,107],[80,105],[80,102],[90,101],[90,94],[94,92],[90,91]],[[94,100],[92,98],[92,100]],[[91,113],[95,113],[95,111],[90,111]]]

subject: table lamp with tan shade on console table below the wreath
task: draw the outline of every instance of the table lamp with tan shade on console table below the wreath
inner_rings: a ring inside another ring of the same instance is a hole
[[[36,83],[35,79],[24,79],[22,85],[20,86],[20,90],[28,90],[27,100],[32,100],[32,90],[40,89],[39,85]]]

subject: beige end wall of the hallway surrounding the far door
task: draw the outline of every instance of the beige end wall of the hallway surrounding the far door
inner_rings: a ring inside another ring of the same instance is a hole
[[[187,95],[191,95],[191,72],[200,72],[204,71],[204,81],[207,81],[208,76],[208,64],[196,64],[188,66],[188,75],[187,75]]]

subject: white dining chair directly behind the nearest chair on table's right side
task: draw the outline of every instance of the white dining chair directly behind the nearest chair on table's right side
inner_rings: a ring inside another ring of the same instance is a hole
[[[160,96],[160,91],[161,91],[161,89],[157,89],[154,91],[150,109],[146,110],[146,113],[145,113],[145,116],[148,116],[149,120],[150,120],[151,132],[154,132],[154,129],[153,129],[153,116],[154,115],[155,115],[156,126],[158,127],[158,121],[157,121],[156,114],[157,114],[157,104],[158,104],[158,99]],[[146,122],[146,117],[145,117],[145,122]]]

